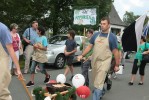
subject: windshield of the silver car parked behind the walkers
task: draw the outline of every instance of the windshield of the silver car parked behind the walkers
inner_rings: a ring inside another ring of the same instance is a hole
[[[67,36],[54,36],[49,39],[50,44],[65,45]]]

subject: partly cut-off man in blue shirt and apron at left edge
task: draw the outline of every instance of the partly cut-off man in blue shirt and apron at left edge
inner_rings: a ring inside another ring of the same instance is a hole
[[[0,100],[12,100],[8,90],[11,81],[10,70],[8,68],[8,53],[16,65],[18,77],[22,77],[20,66],[11,43],[12,38],[9,29],[0,22]]]

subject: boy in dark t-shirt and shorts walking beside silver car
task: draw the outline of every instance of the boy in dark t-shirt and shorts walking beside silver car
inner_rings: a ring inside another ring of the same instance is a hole
[[[69,30],[68,31],[68,39],[66,40],[66,47],[64,49],[64,54],[66,56],[66,69],[65,69],[65,72],[64,72],[64,75],[66,76],[69,72],[69,70],[71,71],[71,78],[70,80],[72,80],[73,78],[73,75],[74,75],[74,69],[73,69],[73,59],[74,59],[74,56],[75,56],[75,52],[77,51],[77,43],[76,41],[74,40],[74,37],[75,37],[75,31],[74,30]]]

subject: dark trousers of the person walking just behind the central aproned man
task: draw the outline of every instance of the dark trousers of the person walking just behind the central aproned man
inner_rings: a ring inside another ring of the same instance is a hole
[[[91,66],[91,60],[87,60],[84,63],[82,62],[81,70],[82,70],[82,75],[85,78],[85,85],[89,86],[89,75],[88,75],[88,69]]]

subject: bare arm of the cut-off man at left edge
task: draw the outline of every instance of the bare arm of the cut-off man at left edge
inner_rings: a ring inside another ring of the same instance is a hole
[[[7,48],[8,52],[9,52],[9,54],[10,54],[10,56],[11,56],[11,58],[12,58],[14,64],[15,64],[16,68],[17,68],[18,77],[21,78],[22,77],[22,73],[20,71],[20,65],[19,65],[18,59],[16,57],[16,54],[15,54],[15,52],[13,50],[12,44],[7,44],[6,48]]]

